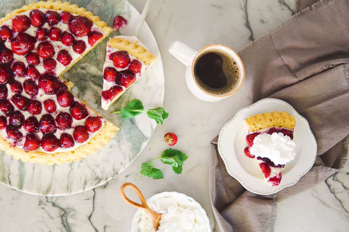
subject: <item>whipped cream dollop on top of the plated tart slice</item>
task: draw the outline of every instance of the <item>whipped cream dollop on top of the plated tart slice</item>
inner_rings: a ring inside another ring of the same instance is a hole
[[[256,157],[270,159],[275,165],[285,165],[295,158],[296,144],[280,132],[260,134],[254,138],[250,152]]]

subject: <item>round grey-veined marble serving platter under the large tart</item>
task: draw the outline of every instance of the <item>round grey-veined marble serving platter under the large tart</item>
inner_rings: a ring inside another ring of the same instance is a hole
[[[106,0],[94,7],[94,1],[71,1],[81,7],[92,8],[92,13],[101,17],[112,26],[116,15],[123,15],[128,25],[120,30],[123,35],[133,35],[140,14],[126,0]],[[89,2],[84,4],[84,2]],[[30,3],[30,2],[29,2]],[[6,12],[23,6],[22,1],[3,0]],[[90,6],[91,5],[91,6]],[[110,37],[120,34],[112,32]],[[140,154],[154,132],[156,123],[146,114],[135,119],[122,119],[111,111],[120,110],[132,99],[142,101],[145,109],[162,106],[164,99],[164,72],[161,55],[149,26],[144,22],[139,33],[139,40],[147,46],[158,61],[149,67],[131,88],[129,88],[108,111],[101,108],[103,86],[103,63],[105,58],[106,38],[94,50],[72,67],[64,78],[74,82],[72,92],[107,119],[120,127],[116,137],[96,154],[90,154],[78,162],[63,165],[39,165],[16,160],[5,152],[0,152],[0,182],[14,189],[38,195],[67,195],[92,189],[102,185],[127,168]]]

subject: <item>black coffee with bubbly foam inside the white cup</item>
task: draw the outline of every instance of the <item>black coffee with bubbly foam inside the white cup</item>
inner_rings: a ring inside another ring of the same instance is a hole
[[[227,94],[238,83],[239,69],[227,53],[209,50],[200,54],[194,65],[196,83],[215,95]]]

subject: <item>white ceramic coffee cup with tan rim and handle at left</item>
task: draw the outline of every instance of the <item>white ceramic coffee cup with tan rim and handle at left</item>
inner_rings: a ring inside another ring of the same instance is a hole
[[[220,50],[228,54],[236,62],[236,65],[239,69],[239,78],[236,86],[226,94],[216,95],[216,94],[209,93],[206,90],[202,89],[199,86],[199,84],[196,82],[196,79],[194,77],[194,64],[196,62],[196,59],[200,56],[200,54],[208,50]],[[200,51],[195,51],[194,49],[188,47],[184,43],[177,40],[172,42],[169,48],[169,52],[186,66],[185,80],[186,80],[187,86],[189,90],[192,92],[192,94],[194,94],[197,98],[203,101],[206,101],[206,102],[222,101],[223,99],[235,94],[240,89],[240,87],[244,82],[244,79],[245,79],[244,64],[242,63],[239,55],[229,47],[226,47],[220,44],[213,44],[213,45],[208,45],[202,48]]]

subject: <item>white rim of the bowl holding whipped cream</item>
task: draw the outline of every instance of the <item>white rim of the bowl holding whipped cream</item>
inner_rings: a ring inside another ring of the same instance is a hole
[[[202,206],[197,201],[195,201],[191,197],[188,197],[184,193],[178,193],[178,192],[162,192],[162,193],[158,193],[158,194],[155,194],[152,197],[150,197],[147,200],[147,203],[150,202],[150,201],[154,201],[156,199],[159,199],[159,198],[163,198],[163,197],[167,197],[167,198],[172,198],[173,197],[173,198],[177,198],[177,199],[178,198],[183,198],[183,199],[188,199],[189,201],[191,201],[193,203],[193,205],[195,205],[196,207],[199,208],[199,211],[200,211],[199,213],[201,215],[205,215],[204,216],[205,217],[204,220],[206,221],[207,230],[206,231],[202,231],[202,232],[211,232],[210,221],[209,221],[209,219],[207,217],[205,209],[203,209]],[[131,232],[140,232],[140,230],[138,228],[138,222],[139,222],[139,219],[140,219],[141,211],[142,211],[142,209],[137,210],[135,215],[134,215],[134,217],[133,217]]]

